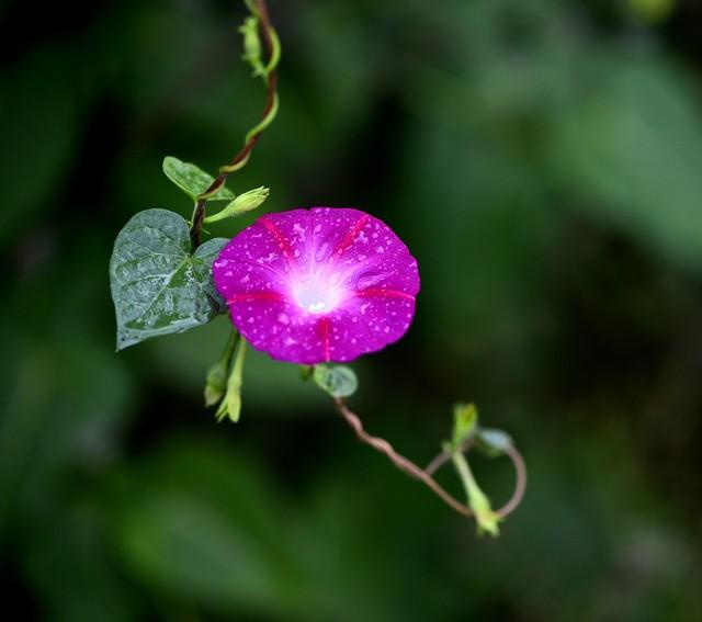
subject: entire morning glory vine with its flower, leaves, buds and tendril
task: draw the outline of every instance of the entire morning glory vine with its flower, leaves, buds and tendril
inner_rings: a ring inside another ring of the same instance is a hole
[[[414,317],[417,260],[385,223],[358,210],[315,207],[267,214],[231,240],[201,240],[203,224],[254,210],[269,194],[268,188],[257,188],[237,196],[226,188],[229,176],[248,162],[279,108],[281,44],[265,0],[245,2],[249,15],[239,30],[244,59],[265,86],[261,120],[214,178],[178,158],[163,160],[166,176],[194,202],[192,220],[168,210],[146,210],[120,231],[110,261],[117,350],[202,326],[228,310],[231,337],[210,369],[205,386],[205,405],[217,406],[217,420],[239,420],[247,343],[276,360],[301,364],[303,378],[314,377],[331,396],[360,441],[456,512],[475,517],[479,532],[497,535],[498,523],[519,506],[526,485],[524,461],[511,438],[483,428],[476,408],[460,404],[450,440],[421,468],[385,439],[365,431],[347,405],[358,387],[355,374],[348,366],[330,364],[397,341]],[[229,203],[207,216],[213,201]],[[471,471],[466,454],[473,449],[512,462],[514,490],[498,510],[491,509]],[[463,484],[465,504],[434,478],[449,462]]]

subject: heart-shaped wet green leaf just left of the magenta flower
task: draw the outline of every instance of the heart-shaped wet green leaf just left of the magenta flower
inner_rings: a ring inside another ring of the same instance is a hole
[[[168,210],[136,214],[120,231],[110,261],[117,350],[183,332],[225,310],[212,262],[227,244],[214,238],[191,253],[185,220]]]

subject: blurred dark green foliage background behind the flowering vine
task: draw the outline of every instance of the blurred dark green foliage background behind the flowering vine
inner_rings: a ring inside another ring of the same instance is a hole
[[[161,159],[215,170],[260,114],[240,4],[0,1],[4,612],[700,620],[702,5],[270,2],[282,108],[230,186],[408,244],[416,321],[352,406],[419,463],[457,399],[512,432],[528,495],[477,540],[293,365],[251,353],[217,425],[225,318],[114,353],[115,235],[191,211]]]

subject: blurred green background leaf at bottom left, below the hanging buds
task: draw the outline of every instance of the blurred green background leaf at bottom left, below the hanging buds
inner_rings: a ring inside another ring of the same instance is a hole
[[[298,613],[306,604],[296,596],[305,566],[274,518],[294,512],[261,477],[260,464],[197,434],[165,440],[122,472],[128,484],[110,506],[129,576],[150,593],[225,619],[242,610],[309,619]]]

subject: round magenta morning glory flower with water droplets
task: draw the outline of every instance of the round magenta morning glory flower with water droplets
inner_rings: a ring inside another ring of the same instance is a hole
[[[222,250],[213,273],[245,339],[304,364],[351,361],[397,341],[419,292],[405,244],[346,208],[267,214]]]

